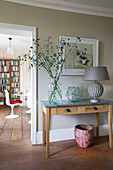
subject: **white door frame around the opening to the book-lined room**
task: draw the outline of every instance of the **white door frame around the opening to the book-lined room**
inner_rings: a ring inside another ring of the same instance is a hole
[[[0,23],[0,28],[4,29],[15,29],[17,31],[30,31],[32,33],[31,44],[33,46],[33,39],[37,38],[37,28],[31,26],[23,26],[23,25],[16,25],[16,24],[6,24]],[[36,46],[34,46],[34,50]],[[31,68],[31,142],[32,145],[37,144],[37,69],[36,67]]]

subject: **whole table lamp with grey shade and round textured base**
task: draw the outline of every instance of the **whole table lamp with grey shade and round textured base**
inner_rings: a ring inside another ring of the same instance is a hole
[[[94,98],[90,101],[92,103],[97,103],[97,97],[100,97],[104,91],[102,84],[98,83],[97,80],[109,80],[107,67],[87,67],[83,79],[94,80],[94,82],[88,87],[88,93]]]

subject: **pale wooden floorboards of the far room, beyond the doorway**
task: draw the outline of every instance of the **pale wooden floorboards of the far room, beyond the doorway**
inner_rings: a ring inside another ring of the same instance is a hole
[[[30,114],[25,113],[27,107],[14,107],[14,113],[19,115],[16,119],[5,119],[11,113],[10,107],[0,107],[0,140],[30,139],[31,125],[28,123]]]

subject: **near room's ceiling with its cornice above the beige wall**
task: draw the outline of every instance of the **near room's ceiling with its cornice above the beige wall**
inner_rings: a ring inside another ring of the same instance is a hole
[[[5,0],[20,4],[113,17],[113,0]]]

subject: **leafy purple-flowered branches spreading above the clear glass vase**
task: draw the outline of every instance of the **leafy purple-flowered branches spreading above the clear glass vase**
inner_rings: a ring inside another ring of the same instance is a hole
[[[52,37],[49,36],[47,40],[44,41],[43,47],[41,47],[38,43],[39,40],[40,39],[33,39],[34,44],[38,47],[38,53],[34,51],[33,47],[30,47],[29,53],[24,56],[19,56],[19,59],[20,61],[26,61],[28,58],[31,61],[29,69],[33,66],[43,67],[51,78],[59,80],[64,64],[77,47],[76,42],[71,46],[69,43],[70,39],[68,39],[67,42],[60,40],[59,45],[53,45]],[[79,37],[77,37],[77,41],[81,41]],[[64,49],[66,49],[65,57],[63,56]],[[31,50],[33,51],[32,56]]]

